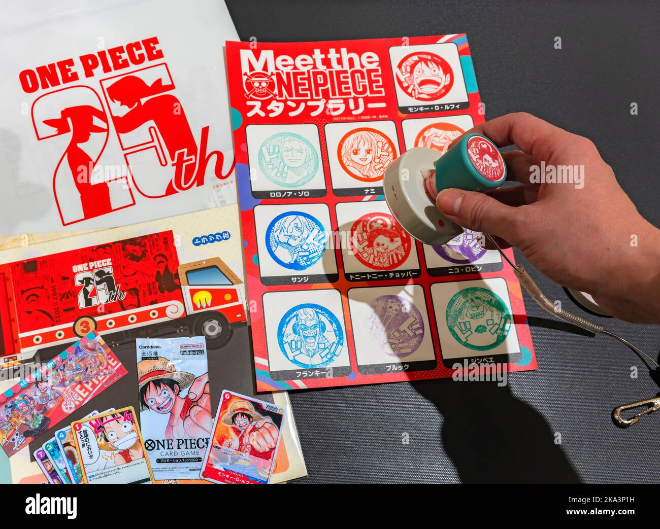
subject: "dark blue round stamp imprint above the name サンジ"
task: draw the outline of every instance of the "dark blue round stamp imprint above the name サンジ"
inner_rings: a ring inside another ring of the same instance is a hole
[[[325,250],[328,235],[312,215],[289,211],[275,217],[266,229],[266,248],[273,261],[290,270],[306,270]]]

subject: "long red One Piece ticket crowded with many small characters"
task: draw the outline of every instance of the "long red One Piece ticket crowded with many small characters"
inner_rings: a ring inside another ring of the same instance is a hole
[[[0,394],[3,449],[13,456],[126,373],[103,338],[90,332]]]

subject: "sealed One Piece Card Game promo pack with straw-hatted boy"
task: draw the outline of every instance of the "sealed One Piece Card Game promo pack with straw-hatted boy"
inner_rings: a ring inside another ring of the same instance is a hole
[[[199,478],[213,425],[204,336],[137,338],[140,425],[156,480]]]

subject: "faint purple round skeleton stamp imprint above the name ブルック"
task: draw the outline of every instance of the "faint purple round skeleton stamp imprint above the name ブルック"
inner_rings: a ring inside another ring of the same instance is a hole
[[[366,327],[382,352],[405,358],[424,340],[424,319],[413,303],[401,296],[378,296],[370,303],[373,313]]]

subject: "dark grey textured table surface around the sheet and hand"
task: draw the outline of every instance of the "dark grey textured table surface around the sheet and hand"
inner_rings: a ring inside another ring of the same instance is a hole
[[[657,3],[227,5],[242,40],[466,32],[486,117],[529,111],[591,138],[640,212],[660,225]],[[556,36],[562,49],[553,47]],[[632,102],[638,115],[630,115]],[[532,274],[550,299],[579,311],[560,286]],[[659,482],[660,412],[627,430],[610,419],[615,406],[659,391],[642,362],[608,336],[547,328],[529,296],[525,305],[539,369],[514,373],[506,387],[443,380],[292,393],[310,474],[300,481]],[[657,326],[597,320],[657,357]]]

